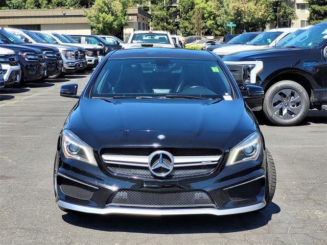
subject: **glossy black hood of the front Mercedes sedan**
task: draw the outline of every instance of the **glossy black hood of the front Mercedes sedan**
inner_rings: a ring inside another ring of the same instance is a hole
[[[81,99],[65,128],[95,149],[159,145],[229,149],[256,130],[243,100]],[[159,140],[159,134],[166,139]]]

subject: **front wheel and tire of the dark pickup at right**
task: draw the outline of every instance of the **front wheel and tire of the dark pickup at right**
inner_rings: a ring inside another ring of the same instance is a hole
[[[309,111],[307,91],[298,83],[284,80],[272,85],[266,92],[263,111],[266,118],[278,126],[295,126]]]

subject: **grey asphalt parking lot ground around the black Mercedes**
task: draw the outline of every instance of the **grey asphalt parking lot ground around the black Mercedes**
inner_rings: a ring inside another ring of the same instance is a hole
[[[273,203],[233,216],[91,216],[55,203],[58,134],[90,74],[0,91],[0,244],[327,244],[327,113],[310,111],[297,127],[259,118],[276,165]]]

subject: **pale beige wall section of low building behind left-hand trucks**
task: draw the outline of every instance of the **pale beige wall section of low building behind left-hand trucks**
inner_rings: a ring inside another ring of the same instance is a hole
[[[78,24],[41,24],[41,31],[52,31],[61,34],[90,35],[91,27],[87,23]]]

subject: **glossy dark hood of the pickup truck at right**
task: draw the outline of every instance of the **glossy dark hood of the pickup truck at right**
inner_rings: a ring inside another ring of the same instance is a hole
[[[293,57],[301,52],[299,48],[268,48],[265,50],[255,50],[248,52],[241,52],[230,54],[223,58],[223,61],[253,61],[253,60],[267,60],[277,58],[279,60],[283,57]]]

